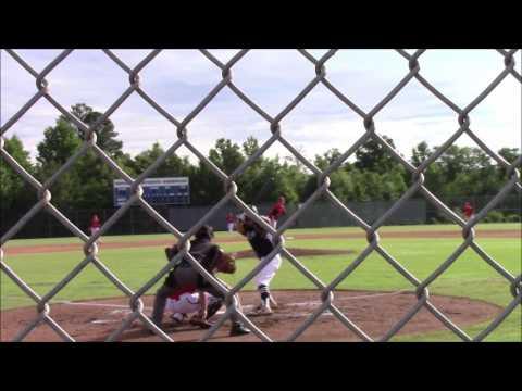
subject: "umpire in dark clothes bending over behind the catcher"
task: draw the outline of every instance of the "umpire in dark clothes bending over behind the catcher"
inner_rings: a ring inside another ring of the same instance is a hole
[[[211,275],[220,272],[217,263],[224,255],[219,245],[212,243],[212,238],[214,232],[211,226],[202,226],[196,234],[195,239],[190,241],[190,251],[189,253],[198,261],[201,266],[209,272]],[[174,254],[177,252],[177,247],[174,245],[172,249],[165,249],[165,253],[169,260],[171,260]],[[225,270],[223,270],[225,272]],[[235,267],[232,270],[225,273],[234,273]],[[224,300],[224,294],[214,288],[209,281],[207,281],[203,276],[201,276],[198,270],[196,270],[190,263],[183,258],[174,268],[171,270],[169,276],[165,278],[163,286],[156,293],[154,306],[152,311],[151,320],[158,327],[161,327],[163,320],[163,313],[165,311],[166,299],[175,294],[178,290],[199,290],[209,292],[215,298]],[[210,315],[210,314],[209,314]],[[249,333],[250,330],[247,329],[236,317],[235,314],[232,315],[232,328],[231,336],[241,336]]]

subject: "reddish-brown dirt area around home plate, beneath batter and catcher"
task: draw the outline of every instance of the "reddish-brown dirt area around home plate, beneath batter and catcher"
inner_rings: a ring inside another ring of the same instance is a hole
[[[273,293],[279,303],[274,314],[250,317],[250,319],[270,338],[282,341],[288,338],[319,306],[320,294],[312,290],[286,290]],[[257,292],[244,292],[240,298],[246,314],[259,301]],[[151,312],[152,300],[153,297],[144,298],[147,314]],[[462,298],[432,295],[431,301],[460,327],[489,320],[501,311],[494,304]],[[414,294],[405,291],[337,291],[334,299],[334,304],[372,338],[382,337],[414,303]],[[78,341],[103,341],[128,314],[128,299],[124,298],[54,303],[51,305],[50,313],[54,320]],[[13,339],[35,315],[34,307],[3,311],[0,341]],[[221,316],[220,313],[214,318],[219,316]],[[400,330],[399,335],[442,329],[445,329],[444,325],[427,310],[422,308]],[[211,341],[259,341],[253,333],[228,337],[228,330],[227,321]],[[170,324],[169,316],[165,316],[165,331],[179,342],[197,341],[204,333],[203,330],[188,324],[174,327]],[[160,341],[160,338],[150,336],[139,321],[135,321],[121,340],[153,342]],[[47,325],[42,325],[27,336],[26,341],[60,341],[60,338]],[[323,313],[297,341],[359,341],[359,338],[332,314]]]

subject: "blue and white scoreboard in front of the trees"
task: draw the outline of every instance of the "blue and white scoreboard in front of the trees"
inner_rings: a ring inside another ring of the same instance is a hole
[[[144,199],[151,205],[188,205],[190,187],[187,177],[147,178],[141,182]],[[123,179],[113,181],[114,206],[123,205],[130,198],[130,186]]]

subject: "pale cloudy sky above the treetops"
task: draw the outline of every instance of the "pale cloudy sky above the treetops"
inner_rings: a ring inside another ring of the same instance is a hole
[[[61,50],[16,50],[37,72]],[[114,50],[128,66],[141,61],[150,50]],[[309,50],[320,58],[326,50]],[[413,50],[409,50],[410,53]],[[212,50],[225,62],[237,50]],[[35,78],[1,51],[1,124],[15,114],[37,91]],[[495,50],[427,50],[419,59],[420,74],[460,108],[468,105],[504,68],[504,58]],[[521,72],[521,51],[515,68]],[[340,50],[326,64],[326,77],[360,109],[369,112],[409,72],[408,61],[394,50]],[[221,70],[197,50],[162,51],[141,72],[141,87],[176,119],[182,121],[221,81]],[[252,50],[232,68],[234,84],[271,116],[277,115],[314,77],[314,65],[297,50]],[[128,76],[101,50],[75,50],[48,76],[50,94],[63,106],[86,103],[104,112],[129,86]],[[490,148],[521,146],[521,84],[508,75],[470,113],[471,129]],[[36,156],[44,130],[60,113],[47,100],[33,106],[5,137],[16,135]],[[176,141],[176,129],[133,93],[111,115],[124,151],[135,155],[159,142],[167,149]],[[421,141],[442,144],[457,129],[455,112],[424,88],[410,83],[375,118],[376,131],[394,139],[405,156]],[[319,84],[281,122],[282,134],[307,157],[332,148],[346,151],[363,135],[362,119],[336,96]],[[270,138],[270,125],[225,87],[188,125],[189,140],[208,152],[219,138],[243,143],[248,136],[260,142]],[[463,135],[459,146],[475,147]],[[181,155],[194,155],[179,150]],[[279,143],[269,156],[289,155]]]

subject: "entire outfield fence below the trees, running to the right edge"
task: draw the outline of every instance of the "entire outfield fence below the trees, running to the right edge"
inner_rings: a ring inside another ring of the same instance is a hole
[[[488,197],[456,197],[445,200],[453,212],[462,215],[462,205],[469,201],[475,207],[481,210],[494,199]],[[389,201],[368,201],[368,202],[348,202],[346,206],[355,212],[363,220],[372,224],[384,212],[386,212],[397,200]],[[260,214],[266,215],[272,204],[258,203],[257,209]],[[279,219],[285,223],[289,216],[296,212],[298,205],[287,205],[287,215]],[[211,209],[211,205],[202,206],[171,206],[154,205],[156,211],[170,224],[177,229],[190,229],[200,218],[202,218]],[[521,197],[513,194],[506,197],[502,202],[498,203],[483,222],[488,223],[518,223],[521,222]],[[101,222],[109,219],[117,207],[96,209],[96,210],[67,210],[63,209],[62,213],[71,219],[84,232],[88,234],[90,218],[97,214]],[[221,210],[216,211],[207,223],[214,227],[215,230],[226,230],[226,214],[228,212],[239,213],[240,210],[233,203],[228,203]],[[0,209],[0,236],[5,234],[20,218],[23,212]],[[433,204],[426,202],[423,198],[413,198],[402,203],[394,215],[389,216],[386,225],[424,225],[424,224],[449,224],[451,220],[445,217],[443,213]],[[331,202],[316,201],[310,205],[302,215],[294,222],[291,228],[323,228],[323,227],[352,227],[356,222],[347,214],[338,213],[338,210]],[[105,232],[112,235],[135,235],[135,234],[161,234],[164,228],[158,222],[151,218],[148,213],[138,206],[130,207],[117,222],[115,222]],[[35,239],[35,238],[62,238],[70,237],[73,234],[55,219],[52,215],[41,211],[35,215],[29,224],[26,224],[16,232],[17,239]]]

